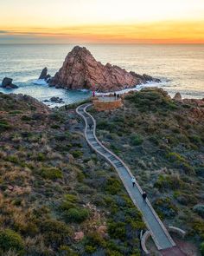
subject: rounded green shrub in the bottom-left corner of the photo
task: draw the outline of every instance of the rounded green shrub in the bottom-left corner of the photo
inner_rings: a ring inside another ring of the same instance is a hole
[[[15,251],[17,255],[22,255],[24,251],[24,243],[19,233],[11,229],[0,230],[0,249],[3,252],[10,250]]]

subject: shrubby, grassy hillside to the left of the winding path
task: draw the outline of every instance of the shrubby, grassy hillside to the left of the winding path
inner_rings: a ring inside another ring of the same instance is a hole
[[[0,102],[0,255],[140,255],[141,215],[74,108]]]

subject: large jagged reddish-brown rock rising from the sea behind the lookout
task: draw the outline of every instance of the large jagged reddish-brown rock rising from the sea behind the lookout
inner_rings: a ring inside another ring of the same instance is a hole
[[[49,85],[64,89],[109,92],[133,88],[149,81],[160,82],[150,75],[137,75],[110,63],[103,65],[94,59],[89,50],[76,46],[67,55],[61,69],[50,79]]]

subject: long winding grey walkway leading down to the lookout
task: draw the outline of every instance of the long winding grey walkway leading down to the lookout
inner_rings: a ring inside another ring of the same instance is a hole
[[[152,239],[154,240],[156,247],[158,250],[164,250],[167,248],[171,248],[175,246],[175,242],[169,235],[166,227],[163,225],[163,222],[159,219],[155,210],[150,204],[148,199],[143,200],[142,194],[143,190],[138,185],[136,181],[136,186],[132,187],[131,170],[127,167],[124,162],[118,158],[116,154],[113,154],[109,149],[105,148],[101,142],[96,137],[96,121],[86,112],[86,108],[90,107],[92,104],[84,104],[76,109],[77,113],[83,117],[86,128],[85,128],[85,137],[88,144],[93,148],[98,154],[105,157],[106,161],[109,161],[113,167],[118,172],[120,179],[124,183],[124,187],[126,188],[128,194],[131,197],[131,200],[135,204],[135,206],[140,210],[143,214],[143,221],[146,226],[150,230],[150,234]],[[91,126],[91,128],[90,128]],[[174,254],[172,254],[174,255]]]

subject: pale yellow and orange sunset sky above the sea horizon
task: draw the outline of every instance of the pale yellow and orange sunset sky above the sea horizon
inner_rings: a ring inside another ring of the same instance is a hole
[[[204,0],[0,0],[0,43],[204,43]]]

